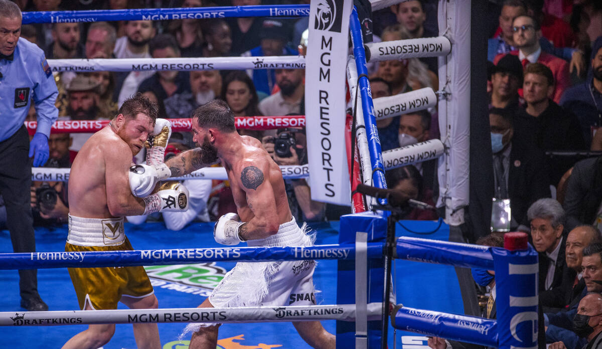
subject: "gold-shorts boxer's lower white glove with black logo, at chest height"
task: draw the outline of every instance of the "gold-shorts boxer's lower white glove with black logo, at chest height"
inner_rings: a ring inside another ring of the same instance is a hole
[[[184,212],[188,209],[188,189],[180,182],[170,181],[160,185],[157,193],[143,197],[144,214],[153,212]]]

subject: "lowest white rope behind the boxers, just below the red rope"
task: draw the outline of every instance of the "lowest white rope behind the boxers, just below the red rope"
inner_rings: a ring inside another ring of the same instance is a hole
[[[308,165],[281,166],[280,170],[284,179],[307,178],[309,176]],[[69,171],[70,168],[34,167],[31,168],[31,180],[67,182],[69,181]],[[168,178],[166,181],[184,181],[185,179],[217,179],[219,181],[226,181],[228,175],[223,167],[206,167],[185,176]]]

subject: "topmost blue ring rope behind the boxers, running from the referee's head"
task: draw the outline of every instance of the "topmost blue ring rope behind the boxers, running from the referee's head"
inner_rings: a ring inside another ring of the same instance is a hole
[[[171,20],[226,17],[306,17],[309,5],[258,5],[189,8],[136,8],[128,10],[23,12],[22,24],[101,22],[111,20]]]

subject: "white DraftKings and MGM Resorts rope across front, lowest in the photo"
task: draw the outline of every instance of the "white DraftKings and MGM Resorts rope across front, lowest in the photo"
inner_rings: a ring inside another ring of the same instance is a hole
[[[368,304],[368,320],[379,320],[382,303]],[[278,323],[355,321],[355,304],[285,307],[60,310],[0,312],[0,326],[58,326],[137,323]]]

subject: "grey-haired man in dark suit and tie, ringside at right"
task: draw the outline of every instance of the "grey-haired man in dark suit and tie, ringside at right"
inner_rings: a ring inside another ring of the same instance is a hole
[[[539,253],[539,291],[550,291],[562,284],[566,267],[565,212],[554,199],[539,199],[529,207],[533,247]]]

